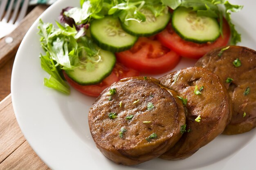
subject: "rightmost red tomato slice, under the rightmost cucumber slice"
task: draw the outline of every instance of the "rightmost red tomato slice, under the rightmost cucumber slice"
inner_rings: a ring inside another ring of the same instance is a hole
[[[175,33],[175,31],[173,30],[170,22],[164,31],[157,34],[157,39],[162,44],[183,57],[198,59],[209,51],[221,46],[226,46],[228,44],[230,38],[230,30],[229,24],[225,19],[223,19],[222,31],[223,37],[220,35],[220,37],[216,41],[198,44],[195,42],[185,41],[180,38],[180,36],[177,35],[177,33]]]

